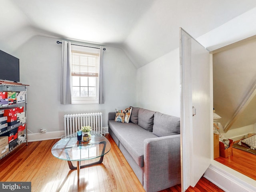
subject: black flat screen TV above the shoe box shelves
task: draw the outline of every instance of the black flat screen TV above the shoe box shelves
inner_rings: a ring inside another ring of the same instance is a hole
[[[20,81],[20,60],[0,50],[0,80]]]

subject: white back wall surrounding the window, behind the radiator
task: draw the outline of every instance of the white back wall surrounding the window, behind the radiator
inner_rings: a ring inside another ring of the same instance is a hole
[[[108,112],[136,105],[136,68],[121,49],[113,47],[105,47],[103,55],[105,103],[61,105],[62,45],[57,44],[57,40],[36,36],[15,53],[20,59],[20,82],[30,85],[27,93],[28,129],[38,133],[43,128],[52,133],[38,136],[29,132],[29,140],[63,135],[64,114],[102,112],[103,126],[107,127]]]

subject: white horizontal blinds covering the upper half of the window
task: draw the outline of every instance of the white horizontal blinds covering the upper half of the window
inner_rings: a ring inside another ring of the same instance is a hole
[[[72,76],[98,77],[100,49],[72,45]]]

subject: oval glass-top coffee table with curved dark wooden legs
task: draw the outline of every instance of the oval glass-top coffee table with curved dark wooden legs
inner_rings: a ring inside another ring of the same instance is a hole
[[[78,141],[77,134],[71,134],[56,142],[52,146],[52,155],[56,158],[67,160],[71,170],[77,169],[78,184],[80,168],[100,164],[103,157],[110,151],[110,142],[102,135],[95,131],[90,131],[90,140]],[[81,165],[82,160],[90,160],[100,158],[97,162]],[[76,161],[76,166],[73,166],[72,161]]]

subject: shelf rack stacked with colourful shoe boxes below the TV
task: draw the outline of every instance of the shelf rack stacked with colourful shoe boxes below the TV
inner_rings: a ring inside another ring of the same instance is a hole
[[[0,81],[0,159],[12,152],[27,138],[28,85]]]

